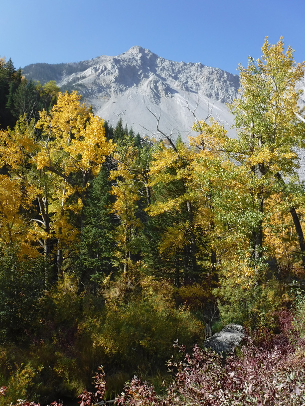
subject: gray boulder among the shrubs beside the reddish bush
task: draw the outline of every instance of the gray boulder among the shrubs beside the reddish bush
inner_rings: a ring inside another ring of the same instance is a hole
[[[205,347],[211,348],[216,352],[230,352],[241,343],[245,337],[245,329],[239,324],[228,324],[221,331],[207,338],[204,342]]]

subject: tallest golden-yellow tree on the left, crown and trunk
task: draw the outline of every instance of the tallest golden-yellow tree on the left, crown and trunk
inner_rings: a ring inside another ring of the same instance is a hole
[[[37,170],[51,173],[56,179],[53,207],[60,270],[62,244],[71,243],[75,238],[75,233],[67,232],[65,215],[68,211],[81,213],[90,177],[97,176],[114,146],[105,137],[104,121],[80,103],[76,92],[60,93],[50,112],[40,112],[36,127],[42,131],[41,148],[35,156]]]

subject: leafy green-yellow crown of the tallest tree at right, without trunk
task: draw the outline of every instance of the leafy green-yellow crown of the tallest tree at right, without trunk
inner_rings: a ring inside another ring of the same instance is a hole
[[[266,37],[262,59],[249,58],[240,70],[241,97],[231,105],[239,134],[237,149],[266,169],[291,174],[296,167],[294,147],[303,146],[304,125],[296,117],[300,111],[296,84],[304,75],[305,64],[297,64],[293,49],[284,53],[283,38],[271,45]]]

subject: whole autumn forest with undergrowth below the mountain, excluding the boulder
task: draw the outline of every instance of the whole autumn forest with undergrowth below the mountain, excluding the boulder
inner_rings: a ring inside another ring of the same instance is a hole
[[[0,60],[0,405],[305,405],[304,68],[266,38],[183,143]]]

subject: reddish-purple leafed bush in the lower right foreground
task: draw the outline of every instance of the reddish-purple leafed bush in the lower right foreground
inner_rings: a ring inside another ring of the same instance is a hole
[[[239,356],[224,359],[198,346],[191,354],[175,344],[182,359],[171,359],[166,395],[134,378],[118,398],[122,406],[293,406],[305,405],[305,343],[289,312],[279,315],[282,332],[261,331],[246,339]]]

